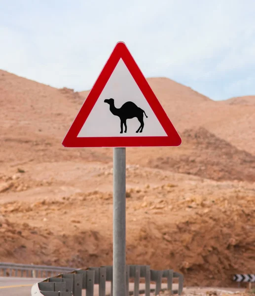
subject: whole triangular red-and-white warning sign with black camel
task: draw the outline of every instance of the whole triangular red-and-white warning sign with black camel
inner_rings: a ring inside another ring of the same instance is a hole
[[[64,147],[179,146],[182,140],[124,42],[118,42]]]

